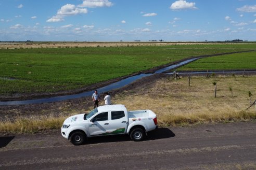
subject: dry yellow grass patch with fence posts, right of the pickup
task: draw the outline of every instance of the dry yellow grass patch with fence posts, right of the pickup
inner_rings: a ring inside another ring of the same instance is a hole
[[[217,82],[217,97],[214,86]],[[229,87],[234,90],[231,95]],[[256,76],[234,78],[219,76],[206,79],[192,77],[188,87],[187,77],[181,80],[161,79],[148,89],[123,92],[114,98],[130,110],[150,109],[157,114],[160,125],[185,125],[244,121],[256,119],[255,107],[250,105],[248,91],[256,93]],[[134,93],[136,91],[136,93]]]

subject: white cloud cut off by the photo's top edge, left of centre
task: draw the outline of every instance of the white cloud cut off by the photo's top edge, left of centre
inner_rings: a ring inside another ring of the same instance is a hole
[[[79,7],[96,8],[96,7],[111,7],[113,3],[108,0],[83,0]]]

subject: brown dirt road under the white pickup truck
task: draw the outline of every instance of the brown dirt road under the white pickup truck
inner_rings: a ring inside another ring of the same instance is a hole
[[[0,169],[256,169],[256,122],[160,128],[142,142],[111,136],[73,146],[59,131],[0,141]]]

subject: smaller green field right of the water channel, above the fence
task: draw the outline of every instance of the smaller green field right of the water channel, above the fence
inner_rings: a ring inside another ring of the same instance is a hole
[[[256,69],[256,51],[213,56],[189,63],[178,70],[243,70]]]

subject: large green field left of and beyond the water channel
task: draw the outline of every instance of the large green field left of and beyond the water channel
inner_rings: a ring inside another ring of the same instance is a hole
[[[0,95],[72,90],[191,56],[252,49],[256,44],[1,49]]]

